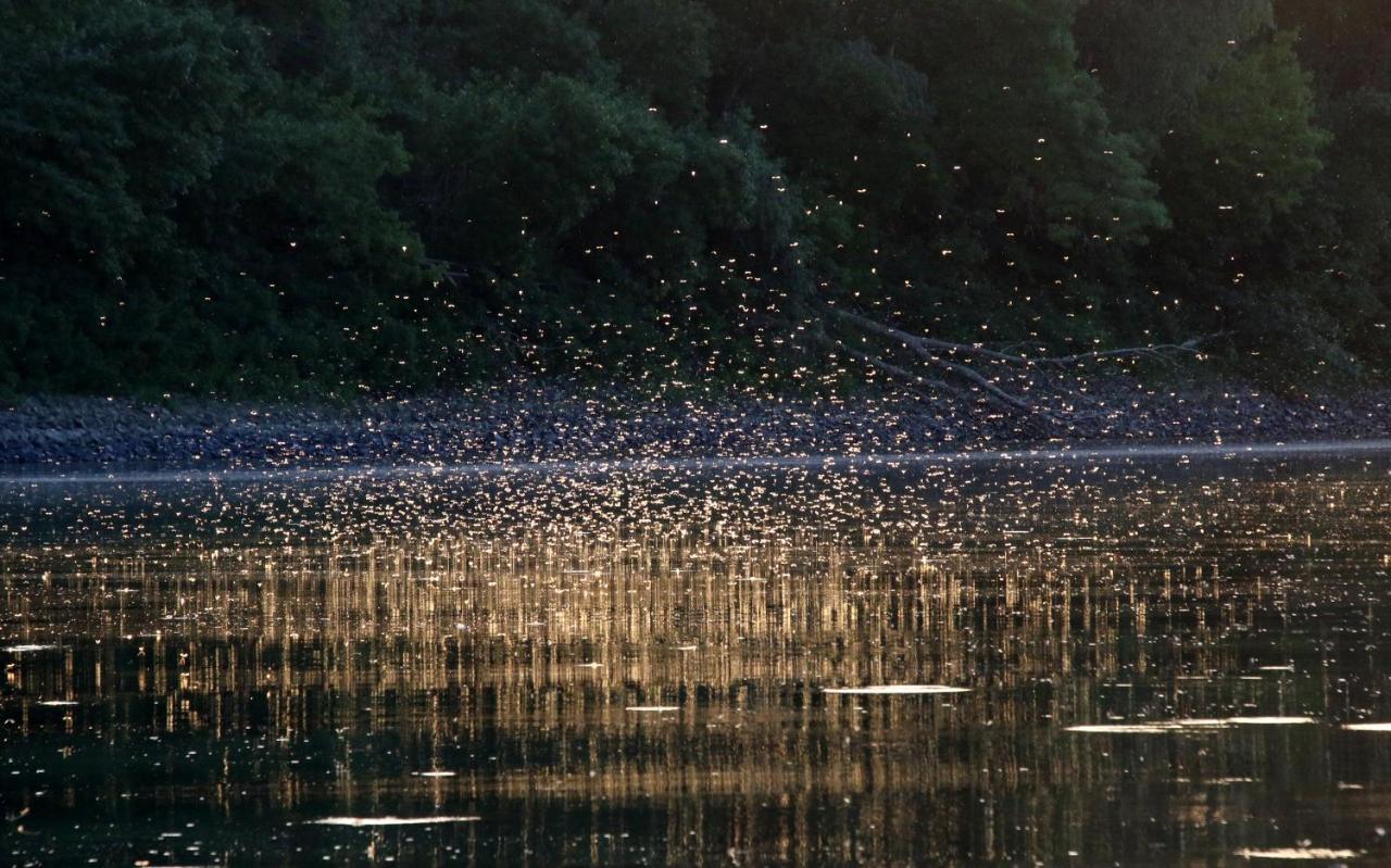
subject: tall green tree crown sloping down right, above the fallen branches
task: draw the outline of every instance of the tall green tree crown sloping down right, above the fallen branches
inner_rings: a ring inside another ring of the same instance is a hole
[[[982,231],[1007,225],[1072,252],[1143,243],[1167,216],[1136,142],[1111,128],[1077,65],[1075,11],[1067,0],[935,0],[879,39],[911,36],[900,46],[910,63],[951,82],[935,92],[938,147]]]

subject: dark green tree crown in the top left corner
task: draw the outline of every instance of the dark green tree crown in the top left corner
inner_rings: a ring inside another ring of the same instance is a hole
[[[139,13],[145,14],[139,14]],[[0,13],[0,209],[31,245],[117,278],[170,243],[248,90],[227,21],[138,3]],[[230,39],[232,38],[232,39]]]

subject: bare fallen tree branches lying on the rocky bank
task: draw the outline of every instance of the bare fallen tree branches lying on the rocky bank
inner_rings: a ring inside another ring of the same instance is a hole
[[[1123,346],[1116,349],[1102,349],[1095,352],[1072,353],[1067,356],[1025,356],[1021,353],[1004,352],[1000,349],[992,349],[988,346],[976,344],[956,344],[951,341],[942,341],[938,338],[928,338],[924,335],[915,335],[901,328],[894,328],[879,320],[869,319],[858,313],[850,313],[847,310],[833,310],[832,314],[855,327],[857,330],[867,332],[869,335],[876,335],[881,338],[887,338],[899,344],[900,348],[907,349],[921,362],[928,363],[931,367],[936,369],[940,374],[961,381],[964,385],[954,385],[953,383],[925,377],[918,374],[901,364],[885,359],[882,355],[875,355],[867,352],[865,349],[851,346],[846,341],[836,341],[836,346],[853,359],[864,362],[881,370],[892,377],[903,380],[917,387],[931,388],[938,392],[944,392],[956,398],[971,399],[975,396],[971,387],[976,389],[976,394],[983,395],[988,401],[1008,409],[1013,413],[1031,415],[1047,419],[1054,423],[1072,423],[1082,419],[1093,419],[1097,413],[1079,413],[1075,409],[1059,410],[1054,408],[1043,406],[1038,403],[1021,391],[1028,392],[1034,387],[1039,385],[1040,381],[1046,381],[1047,377],[1040,377],[1039,369],[1047,367],[1054,371],[1061,371],[1068,366],[1077,366],[1084,362],[1093,360],[1114,360],[1114,359],[1173,359],[1182,355],[1199,356],[1202,353],[1202,345],[1212,341],[1220,335],[1205,335],[1200,338],[1193,338],[1182,344],[1155,344],[1149,346]],[[978,364],[988,363],[992,366],[989,374],[978,370]],[[1013,391],[1006,384],[1010,381],[1024,381],[1024,388],[1020,389],[1014,387]],[[1054,392],[1066,394],[1070,398],[1088,401],[1085,395],[1074,389],[1067,388],[1061,384],[1046,383]]]

